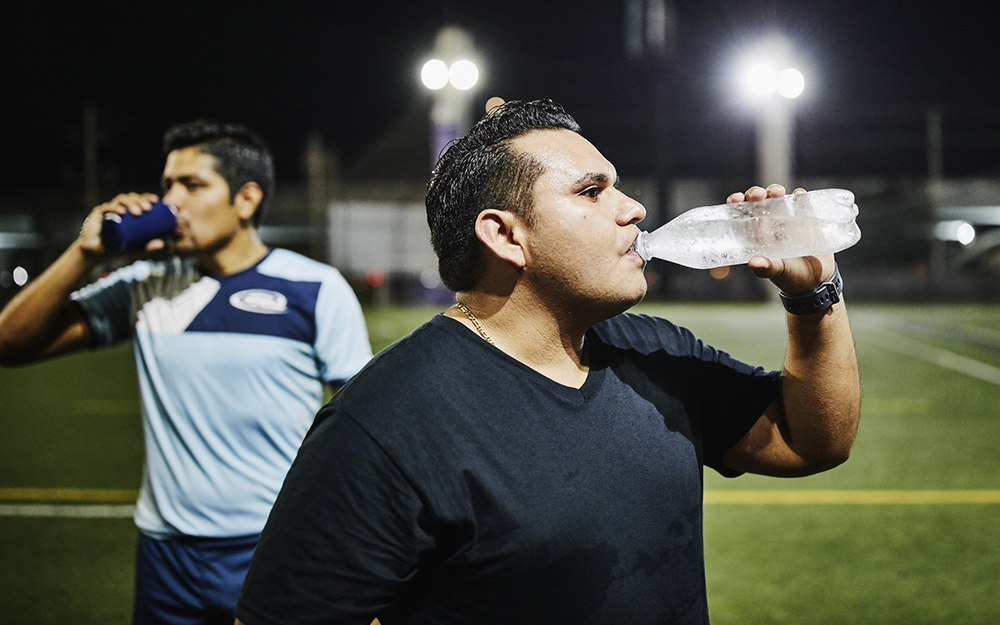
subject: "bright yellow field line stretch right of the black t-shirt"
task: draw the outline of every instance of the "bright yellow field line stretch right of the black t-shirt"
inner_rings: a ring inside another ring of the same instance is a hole
[[[1000,490],[708,490],[706,504],[1000,504]]]

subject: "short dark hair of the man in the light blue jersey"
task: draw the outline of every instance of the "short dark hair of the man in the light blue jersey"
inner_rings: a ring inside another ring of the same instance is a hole
[[[179,124],[163,135],[164,154],[191,146],[215,157],[215,170],[229,185],[230,202],[246,183],[260,185],[263,197],[253,214],[253,225],[259,225],[274,193],[274,157],[264,140],[246,126],[209,119]]]

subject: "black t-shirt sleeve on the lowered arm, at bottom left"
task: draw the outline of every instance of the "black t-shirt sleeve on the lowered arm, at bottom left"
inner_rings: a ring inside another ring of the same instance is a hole
[[[383,449],[325,407],[257,544],[236,616],[247,625],[392,621],[431,547],[421,509]]]

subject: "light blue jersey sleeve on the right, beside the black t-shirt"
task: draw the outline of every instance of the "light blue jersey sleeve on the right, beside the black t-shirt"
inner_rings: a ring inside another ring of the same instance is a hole
[[[316,352],[320,376],[339,386],[371,359],[371,343],[354,291],[337,271],[323,280],[316,303]]]

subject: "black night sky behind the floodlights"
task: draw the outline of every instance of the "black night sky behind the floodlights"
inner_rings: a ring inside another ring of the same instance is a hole
[[[102,191],[155,188],[162,131],[213,117],[272,144],[279,182],[304,177],[310,130],[345,164],[428,96],[437,30],[486,58],[477,98],[551,97],[620,170],[752,174],[753,127],[724,68],[780,28],[813,75],[799,166],[922,175],[923,120],[941,107],[946,175],[1000,173],[998,20],[986,2],[677,0],[676,53],[625,52],[606,2],[18,3],[0,25],[8,191],[80,185],[81,120],[97,107]]]

